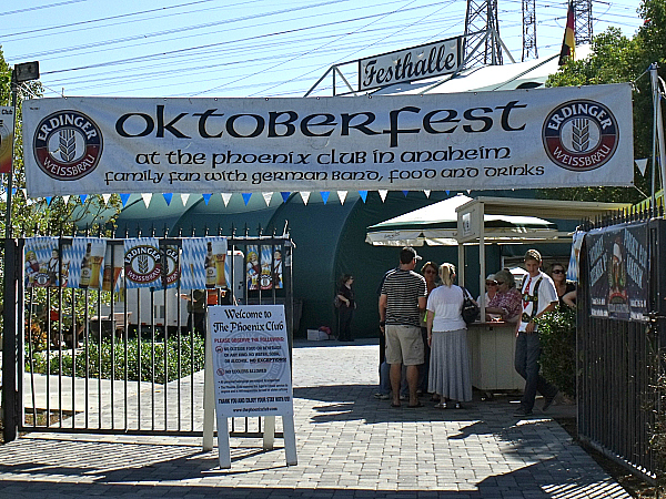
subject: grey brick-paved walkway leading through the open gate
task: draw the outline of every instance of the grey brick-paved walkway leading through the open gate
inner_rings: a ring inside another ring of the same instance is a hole
[[[297,466],[282,440],[232,438],[221,470],[198,438],[30,434],[0,446],[0,498],[629,497],[549,417],[513,418],[508,397],[391,408],[372,396],[376,361],[376,345],[296,345]]]

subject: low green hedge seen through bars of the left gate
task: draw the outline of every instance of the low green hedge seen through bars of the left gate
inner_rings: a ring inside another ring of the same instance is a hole
[[[139,373],[139,345],[141,345],[141,373]],[[192,348],[193,347],[193,348]],[[153,352],[154,348],[154,352]],[[112,364],[112,353],[113,360]],[[75,358],[67,353],[62,355],[62,367],[60,364],[60,355],[56,350],[56,355],[51,356],[49,374],[60,373],[62,376],[72,375],[72,366],[75,361],[75,375],[78,377],[92,377],[111,379],[112,366],[114,369],[115,379],[125,378],[125,365],[128,370],[128,380],[131,381],[154,381],[164,384],[172,381],[191,373],[196,373],[203,369],[204,361],[204,342],[200,336],[182,336],[180,337],[180,373],[179,373],[179,338],[169,338],[167,342],[167,369],[164,369],[164,343],[152,343],[138,338],[128,340],[127,344],[127,361],[125,361],[125,344],[111,342],[102,342],[102,344],[90,343],[88,350],[80,348],[77,350]],[[101,354],[101,355],[100,355]],[[88,355],[88,363],[85,361]],[[154,366],[152,357],[154,355]],[[26,364],[26,370],[30,371],[29,363]],[[167,373],[165,373],[167,371]],[[47,374],[46,354],[34,357],[34,373]]]

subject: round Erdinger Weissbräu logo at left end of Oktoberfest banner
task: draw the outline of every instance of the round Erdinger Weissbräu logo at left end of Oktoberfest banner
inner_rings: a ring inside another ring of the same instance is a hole
[[[77,180],[88,175],[102,155],[99,126],[79,111],[58,111],[44,118],[34,132],[37,164],[52,179]]]

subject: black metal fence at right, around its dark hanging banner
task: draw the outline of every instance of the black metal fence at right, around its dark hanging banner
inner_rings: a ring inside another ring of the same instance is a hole
[[[577,307],[578,437],[629,471],[655,478],[650,447],[660,410],[657,381],[663,373],[666,320],[666,221],[652,211],[618,213],[582,228],[647,225],[647,310],[649,320],[593,316],[591,262],[581,249]],[[609,272],[606,268],[606,272]],[[607,278],[604,275],[603,278]]]

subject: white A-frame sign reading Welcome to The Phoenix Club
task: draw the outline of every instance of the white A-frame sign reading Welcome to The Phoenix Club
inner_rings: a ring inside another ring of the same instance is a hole
[[[230,464],[230,417],[282,416],[287,465],[296,464],[284,306],[209,307],[220,461]],[[224,454],[225,452],[225,454]]]

